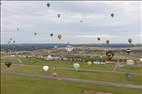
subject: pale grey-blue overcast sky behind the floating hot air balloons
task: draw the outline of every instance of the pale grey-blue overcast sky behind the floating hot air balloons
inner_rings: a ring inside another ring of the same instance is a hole
[[[128,43],[128,38],[141,43],[141,4],[140,1],[2,1],[1,43],[10,38],[16,43],[105,43],[106,40]],[[50,33],[54,36],[50,37]],[[58,34],[62,35],[61,40]]]

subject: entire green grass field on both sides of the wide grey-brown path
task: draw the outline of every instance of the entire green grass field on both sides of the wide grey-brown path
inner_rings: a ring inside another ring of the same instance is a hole
[[[111,72],[114,64],[88,66],[86,63],[80,63],[80,71],[76,72],[72,68],[74,62],[69,61],[45,61],[37,58],[20,58],[22,63],[17,61],[17,58],[10,58],[14,63],[9,69],[6,69],[4,64],[1,64],[1,71],[41,74],[51,76],[53,72],[57,72],[59,77],[78,78],[97,81],[108,81],[123,84],[142,84],[141,67],[126,66],[118,69],[117,72]],[[1,58],[4,62],[4,59]],[[17,64],[17,65],[16,65]],[[49,66],[49,71],[42,70],[43,65]],[[68,69],[69,68],[69,69]],[[82,70],[81,70],[82,69]],[[92,69],[99,71],[83,71],[83,69]],[[103,72],[110,71],[110,72]],[[138,75],[132,75],[131,78],[126,78],[124,73],[130,71]],[[83,84],[59,80],[39,79],[31,77],[19,76],[2,76],[1,77],[1,94],[95,94],[98,91],[111,92],[112,94],[141,94],[140,89],[118,88],[110,86],[99,86],[95,84]]]

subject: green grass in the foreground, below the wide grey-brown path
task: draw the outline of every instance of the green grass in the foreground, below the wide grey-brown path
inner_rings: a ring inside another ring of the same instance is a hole
[[[112,94],[140,94],[137,89],[98,86],[94,84],[73,83],[61,80],[2,76],[1,94],[95,94],[96,91]],[[90,90],[94,93],[84,93]]]

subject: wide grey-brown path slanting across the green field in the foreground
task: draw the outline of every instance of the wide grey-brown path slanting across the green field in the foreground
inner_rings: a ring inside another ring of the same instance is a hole
[[[64,80],[64,81],[71,81],[71,82],[76,82],[76,83],[89,83],[89,84],[96,84],[96,85],[102,85],[102,86],[115,86],[115,87],[121,87],[121,88],[142,89],[142,85],[120,84],[120,83],[95,81],[95,80],[82,80],[82,79],[65,78],[65,77],[53,77],[53,76],[45,76],[45,75],[39,75],[39,74],[1,72],[1,76],[2,75],[33,77],[33,78],[51,79],[51,80]]]

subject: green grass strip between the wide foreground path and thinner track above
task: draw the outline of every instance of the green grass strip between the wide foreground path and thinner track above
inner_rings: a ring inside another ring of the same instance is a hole
[[[1,66],[5,67],[4,65]],[[50,66],[49,66],[50,67]],[[6,67],[5,67],[6,68]],[[4,69],[4,68],[3,68]],[[7,72],[20,72],[20,73],[31,73],[31,74],[42,74],[42,75],[52,75],[53,72],[57,72],[60,77],[69,78],[79,78],[79,79],[89,79],[98,81],[109,81],[116,83],[126,83],[126,84],[142,84],[142,75],[133,75],[131,78],[126,78],[124,74],[121,73],[104,73],[104,72],[88,72],[88,71],[74,71],[64,68],[50,67],[49,71],[44,72],[42,66],[11,66]]]

